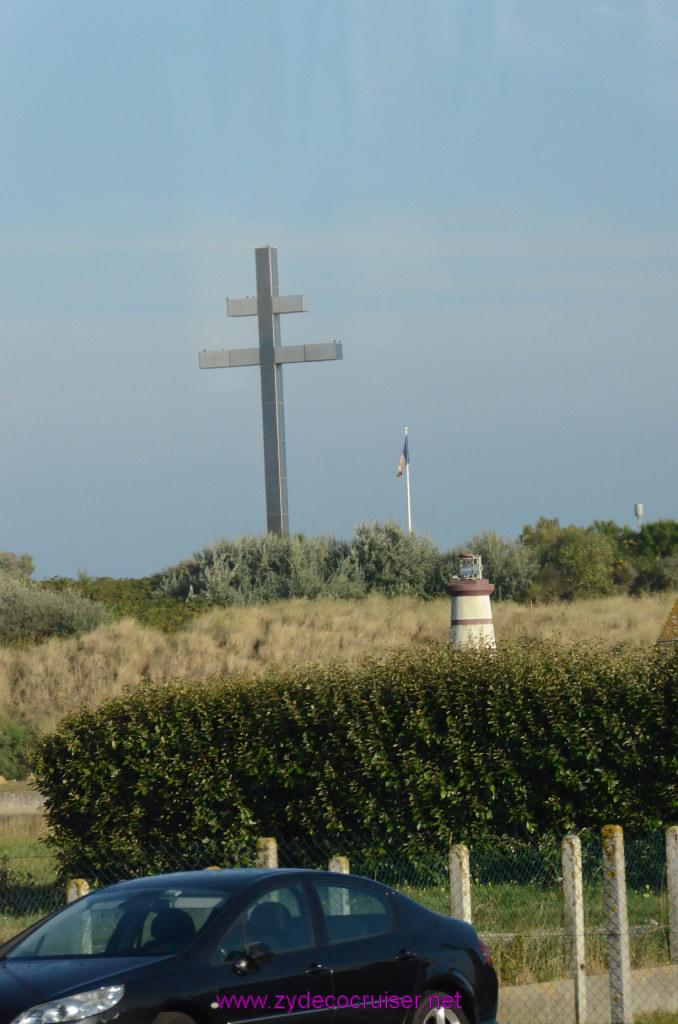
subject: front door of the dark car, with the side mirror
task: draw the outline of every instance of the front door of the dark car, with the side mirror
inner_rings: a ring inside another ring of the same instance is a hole
[[[261,959],[239,966],[243,953]],[[215,1024],[257,1020],[331,1024],[332,974],[317,964],[312,918],[302,885],[259,891],[219,937],[210,971],[209,1011]],[[207,1007],[205,1008],[207,1009]]]

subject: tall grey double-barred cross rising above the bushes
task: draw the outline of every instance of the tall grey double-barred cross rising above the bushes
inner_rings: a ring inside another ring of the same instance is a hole
[[[254,250],[257,294],[254,298],[227,299],[228,316],[256,316],[259,321],[258,348],[221,349],[201,352],[201,370],[219,367],[261,368],[261,414],[263,420],[263,462],[266,480],[266,529],[269,534],[290,532],[287,510],[287,460],[285,456],[285,408],[283,365],[341,359],[340,341],[323,345],[281,345],[281,313],[308,311],[305,295],[278,294],[278,250],[272,246]]]

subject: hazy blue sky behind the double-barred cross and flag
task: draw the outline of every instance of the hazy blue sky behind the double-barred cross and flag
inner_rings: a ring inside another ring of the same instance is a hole
[[[0,549],[140,577],[266,528],[678,518],[675,0],[0,0]]]

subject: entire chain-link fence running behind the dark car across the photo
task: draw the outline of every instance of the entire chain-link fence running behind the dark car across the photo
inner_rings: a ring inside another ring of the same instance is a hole
[[[627,837],[624,847],[628,919],[621,926],[625,934],[616,937],[610,933],[606,898],[609,866],[603,863],[600,839],[581,842],[584,924],[577,963],[576,940],[563,921],[561,844],[543,840],[529,847],[510,842],[469,847],[466,915],[494,956],[500,979],[500,1024],[678,1024],[678,934],[672,935],[672,927],[678,932],[678,916],[672,926],[667,838],[659,833]],[[67,880],[55,852],[17,857],[1,850],[0,836],[0,941],[5,941],[62,905]],[[327,868],[341,853],[309,839],[277,845],[280,867]],[[128,854],[109,851],[105,866],[97,870],[85,857],[80,862],[71,858],[70,869],[71,877],[77,873],[94,888],[156,871],[253,866],[257,857],[261,853],[253,838],[237,863],[232,856],[228,863],[220,860],[218,847],[211,843],[181,849],[167,844],[145,851],[137,846]],[[432,910],[450,913],[446,850],[431,849],[425,856],[405,859],[373,855],[366,849],[353,852],[349,869],[392,886]],[[624,952],[625,946],[628,976],[615,952],[618,947]],[[621,999],[616,1002],[618,990]]]

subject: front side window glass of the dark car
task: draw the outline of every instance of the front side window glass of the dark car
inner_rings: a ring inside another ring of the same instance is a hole
[[[279,886],[258,896],[243,914],[245,942],[265,943],[272,952],[313,944],[310,914],[300,886]]]

